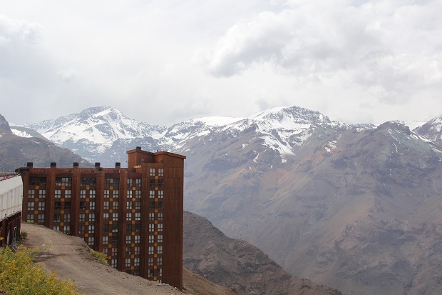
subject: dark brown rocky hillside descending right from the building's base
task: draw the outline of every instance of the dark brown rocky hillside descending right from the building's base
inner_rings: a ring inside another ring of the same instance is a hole
[[[184,227],[184,266],[239,294],[341,294],[308,279],[292,278],[261,250],[228,238],[202,216],[186,211]]]

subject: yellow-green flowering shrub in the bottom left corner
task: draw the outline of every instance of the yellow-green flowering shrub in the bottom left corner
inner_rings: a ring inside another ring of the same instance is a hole
[[[56,272],[46,274],[34,264],[38,250],[19,246],[16,253],[9,248],[0,249],[0,293],[8,295],[71,295],[77,287],[69,281],[56,278]]]

